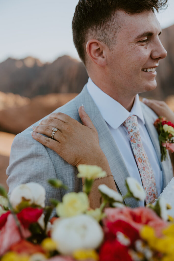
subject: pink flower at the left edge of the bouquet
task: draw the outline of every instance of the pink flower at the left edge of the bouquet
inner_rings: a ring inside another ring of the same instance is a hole
[[[31,235],[29,230],[24,229],[23,226],[21,226],[21,232],[23,238],[28,238]],[[9,214],[7,221],[0,232],[0,256],[8,251],[13,244],[21,241],[21,239],[14,217],[12,214]]]

